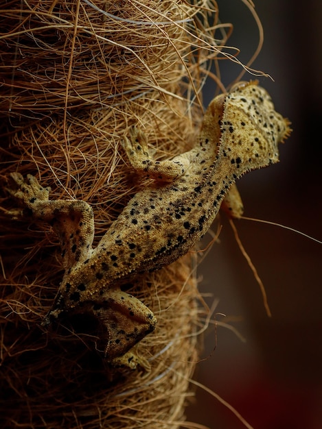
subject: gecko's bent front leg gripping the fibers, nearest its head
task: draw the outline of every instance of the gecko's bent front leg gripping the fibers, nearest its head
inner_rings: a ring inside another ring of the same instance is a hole
[[[177,156],[173,160],[152,160],[148,151],[146,134],[137,127],[130,128],[129,137],[124,138],[122,147],[133,169],[155,180],[172,182],[183,175],[189,165],[185,154]]]

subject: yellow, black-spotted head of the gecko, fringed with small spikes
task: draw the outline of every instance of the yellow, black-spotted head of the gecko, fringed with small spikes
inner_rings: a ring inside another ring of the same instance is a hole
[[[278,145],[290,135],[289,125],[257,81],[240,82],[225,98],[220,126],[222,156],[236,164],[241,174],[278,162]]]

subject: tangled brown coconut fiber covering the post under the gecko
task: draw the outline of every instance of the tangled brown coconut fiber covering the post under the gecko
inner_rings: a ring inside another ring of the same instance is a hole
[[[227,36],[217,12],[211,0],[2,2],[4,186],[10,172],[30,173],[51,187],[51,199],[87,201],[95,246],[149,183],[120,148],[128,127],[146,132],[156,159],[192,147],[209,60],[223,55]],[[2,208],[15,208],[1,192]],[[158,319],[137,345],[150,371],[115,376],[90,324],[41,326],[63,274],[53,230],[0,216],[1,428],[194,427],[184,423],[184,405],[205,314],[196,254],[137,278],[130,293]]]

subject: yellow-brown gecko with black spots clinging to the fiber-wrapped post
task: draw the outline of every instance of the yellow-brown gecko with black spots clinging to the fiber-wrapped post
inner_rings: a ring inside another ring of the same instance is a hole
[[[172,160],[153,160],[148,138],[130,128],[122,147],[131,167],[155,186],[137,192],[93,248],[94,216],[87,202],[49,199],[36,177],[11,173],[8,191],[22,209],[16,218],[47,221],[60,240],[65,273],[49,326],[73,311],[91,312],[106,330],[104,357],[113,367],[144,366],[135,345],[152,332],[157,318],[122,282],[161,269],[191,249],[207,232],[220,206],[238,217],[242,203],[235,181],[279,160],[278,144],[290,123],[275,111],[257,81],[235,84],[205,112],[196,145]]]

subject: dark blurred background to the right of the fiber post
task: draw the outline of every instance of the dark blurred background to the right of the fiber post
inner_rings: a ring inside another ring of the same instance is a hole
[[[264,46],[253,67],[278,112],[292,121],[280,162],[238,182],[244,215],[288,225],[322,240],[322,2],[254,0],[264,27]],[[251,13],[240,0],[218,0],[222,23],[234,25],[229,45],[246,63],[257,45]],[[229,84],[240,67],[222,62]],[[251,79],[244,75],[243,79]],[[214,88],[205,90],[205,105]],[[222,327],[205,336],[205,361],[195,379],[234,406],[255,429],[322,428],[322,245],[294,232],[246,220],[238,233],[264,282],[273,317],[224,215],[220,244],[199,267],[200,290],[219,299],[218,321],[229,321],[246,342]],[[210,236],[206,237],[207,243]],[[205,241],[205,243],[206,243]],[[321,265],[320,265],[321,264]],[[216,345],[216,349],[214,347]],[[211,356],[209,356],[211,354]],[[211,429],[244,426],[202,389],[188,419]]]

